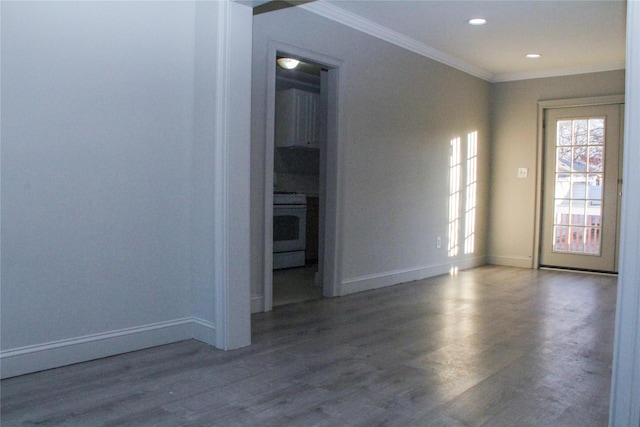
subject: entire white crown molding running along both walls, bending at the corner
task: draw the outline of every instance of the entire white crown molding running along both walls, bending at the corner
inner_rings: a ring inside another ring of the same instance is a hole
[[[419,42],[416,39],[398,33],[397,31],[393,31],[383,25],[365,19],[355,13],[349,12],[348,10],[342,9],[338,6],[334,6],[333,4],[328,3],[324,0],[316,0],[309,3],[304,3],[299,5],[298,7],[491,83],[625,69],[624,62],[612,62],[606,64],[586,65],[583,67],[560,68],[554,70],[493,74],[483,68],[462,61],[455,56],[451,56],[445,52],[428,46],[425,43]]]

